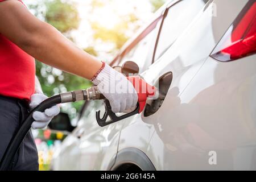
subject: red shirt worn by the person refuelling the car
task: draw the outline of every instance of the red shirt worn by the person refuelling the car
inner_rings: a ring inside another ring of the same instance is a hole
[[[29,100],[34,92],[35,59],[0,33],[0,95]]]

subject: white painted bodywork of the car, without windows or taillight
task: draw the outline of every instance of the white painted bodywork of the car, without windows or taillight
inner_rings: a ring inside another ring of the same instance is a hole
[[[172,72],[160,109],[99,127],[92,107],[64,140],[53,169],[110,169],[127,148],[142,151],[157,170],[256,169],[256,55],[229,63],[209,56],[247,2],[209,1],[142,73],[156,84]],[[84,130],[81,138],[79,130]],[[216,165],[209,163],[212,151]]]

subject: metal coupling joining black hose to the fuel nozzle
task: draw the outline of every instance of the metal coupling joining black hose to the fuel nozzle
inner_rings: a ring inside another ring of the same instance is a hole
[[[85,90],[76,90],[71,92],[60,93],[61,103],[76,102],[82,100],[101,100],[104,95],[98,92],[97,86]]]

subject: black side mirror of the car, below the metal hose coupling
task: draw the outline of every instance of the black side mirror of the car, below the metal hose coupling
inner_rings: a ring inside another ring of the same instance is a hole
[[[59,130],[59,131],[73,131],[75,127],[71,125],[71,121],[67,113],[59,113],[48,125],[51,130]]]

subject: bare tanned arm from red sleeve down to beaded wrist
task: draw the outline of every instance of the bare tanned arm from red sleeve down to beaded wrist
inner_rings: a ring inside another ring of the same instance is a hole
[[[0,3],[0,33],[35,59],[87,79],[102,65],[16,0]]]

